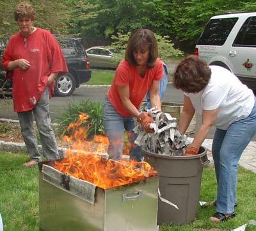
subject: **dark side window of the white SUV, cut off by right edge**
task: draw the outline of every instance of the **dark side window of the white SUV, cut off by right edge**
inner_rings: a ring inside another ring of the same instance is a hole
[[[256,17],[246,19],[236,36],[233,46],[256,47]]]

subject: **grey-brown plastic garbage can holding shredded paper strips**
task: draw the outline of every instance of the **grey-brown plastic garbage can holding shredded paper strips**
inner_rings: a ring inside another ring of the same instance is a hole
[[[199,205],[202,171],[209,165],[204,147],[198,155],[159,155],[143,150],[144,161],[159,176],[161,197],[175,203],[179,210],[158,200],[157,223],[186,225],[196,218]]]

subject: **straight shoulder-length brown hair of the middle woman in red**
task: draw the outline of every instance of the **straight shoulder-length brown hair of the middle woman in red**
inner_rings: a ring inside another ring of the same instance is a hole
[[[132,31],[125,50],[125,60],[131,63],[131,65],[138,65],[133,56],[133,52],[137,49],[149,49],[147,67],[151,68],[156,65],[158,56],[157,40],[150,29],[136,29]]]

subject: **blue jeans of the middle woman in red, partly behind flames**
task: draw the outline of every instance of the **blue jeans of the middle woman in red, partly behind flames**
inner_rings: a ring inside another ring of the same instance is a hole
[[[129,150],[130,159],[142,161],[141,147],[134,144],[138,134],[134,133],[134,116],[124,117],[116,112],[108,98],[103,102],[102,122],[104,131],[108,136],[109,147],[108,154],[110,159],[121,159],[124,144],[124,129],[127,131],[127,137],[131,148]]]

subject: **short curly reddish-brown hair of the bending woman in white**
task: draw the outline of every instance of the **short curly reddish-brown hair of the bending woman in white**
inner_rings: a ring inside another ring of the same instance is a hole
[[[197,93],[205,88],[211,78],[211,68],[196,56],[181,61],[173,75],[173,86],[187,93]]]

